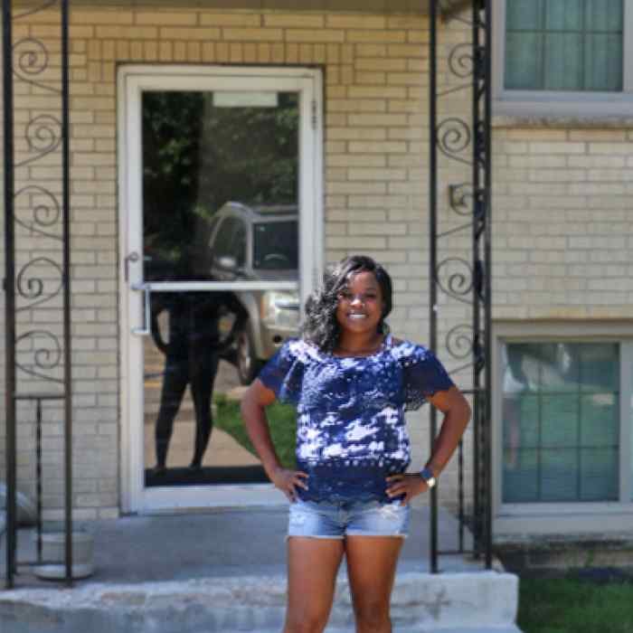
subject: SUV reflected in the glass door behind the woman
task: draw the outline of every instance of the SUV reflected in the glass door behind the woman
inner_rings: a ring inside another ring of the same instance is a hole
[[[228,202],[213,216],[211,276],[220,281],[298,282],[298,208]],[[243,313],[229,359],[242,384],[289,336],[298,335],[297,290],[236,290]]]

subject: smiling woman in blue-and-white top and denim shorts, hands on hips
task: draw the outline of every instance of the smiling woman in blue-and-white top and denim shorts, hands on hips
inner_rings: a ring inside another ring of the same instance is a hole
[[[363,256],[326,271],[308,299],[302,337],[281,347],[245,393],[241,411],[273,484],[290,500],[284,633],[326,628],[345,554],[359,633],[389,633],[396,563],[409,502],[435,483],[470,408],[435,356],[387,332],[392,281]],[[297,469],[279,464],[266,407],[297,405]],[[444,413],[426,468],[410,461],[404,411]]]

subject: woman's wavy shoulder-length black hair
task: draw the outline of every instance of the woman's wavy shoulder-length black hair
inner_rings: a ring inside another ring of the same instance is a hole
[[[378,331],[385,333],[388,327],[385,317],[392,311],[392,278],[378,262],[364,255],[351,255],[333,266],[328,266],[322,285],[306,301],[301,336],[324,352],[332,352],[338,343],[340,326],[336,320],[338,296],[347,288],[350,277],[359,272],[372,272],[383,294],[383,315]]]

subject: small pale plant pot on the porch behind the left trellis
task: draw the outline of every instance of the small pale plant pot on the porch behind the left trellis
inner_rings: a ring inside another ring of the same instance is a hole
[[[35,536],[37,538],[37,536]],[[92,534],[85,532],[72,533],[72,578],[87,578],[93,572]],[[51,532],[42,534],[43,565],[36,565],[33,572],[39,578],[51,581],[62,581],[66,578],[66,534]]]

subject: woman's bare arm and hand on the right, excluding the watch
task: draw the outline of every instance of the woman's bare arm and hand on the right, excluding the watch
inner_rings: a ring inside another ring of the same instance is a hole
[[[449,463],[449,459],[457,449],[459,439],[464,435],[471,411],[462,392],[454,386],[446,391],[436,392],[428,400],[444,414],[439,435],[433,442],[430,459],[426,464],[426,468],[430,468],[434,477],[439,477],[439,473]],[[387,477],[387,481],[389,482],[387,495],[404,495],[403,504],[429,489],[426,481],[419,474],[393,475]]]

